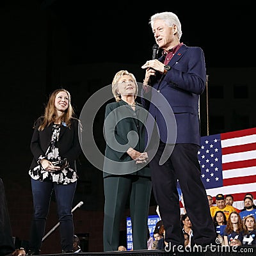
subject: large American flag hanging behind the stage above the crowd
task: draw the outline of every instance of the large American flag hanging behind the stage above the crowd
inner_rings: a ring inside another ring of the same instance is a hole
[[[256,195],[256,128],[204,136],[198,161],[207,195]]]

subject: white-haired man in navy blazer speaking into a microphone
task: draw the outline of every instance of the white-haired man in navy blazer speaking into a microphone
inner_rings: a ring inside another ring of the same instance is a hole
[[[216,236],[197,157],[199,99],[206,82],[204,52],[200,47],[188,47],[180,42],[181,25],[174,13],[156,13],[150,17],[149,24],[163,52],[159,59],[142,66],[146,72],[141,101],[153,117],[151,124],[147,124],[148,133],[154,131],[152,120],[159,132],[158,140],[151,142],[154,147],[157,142],[157,148],[151,156],[150,170],[165,241],[172,247],[184,246],[177,192],[179,180],[195,243],[206,246],[214,243]]]

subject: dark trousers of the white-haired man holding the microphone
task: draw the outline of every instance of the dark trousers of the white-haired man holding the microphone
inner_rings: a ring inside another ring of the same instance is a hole
[[[167,161],[160,165],[159,159],[165,147],[173,151]],[[164,224],[165,241],[171,242],[172,245],[184,245],[177,180],[179,180],[186,212],[192,223],[195,243],[202,246],[214,244],[216,238],[206,191],[200,178],[198,149],[199,146],[195,144],[173,146],[160,141],[156,155],[150,161],[152,188]]]

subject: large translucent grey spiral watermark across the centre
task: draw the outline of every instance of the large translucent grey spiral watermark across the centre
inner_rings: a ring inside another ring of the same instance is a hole
[[[138,83],[138,95],[140,97],[142,97],[140,94],[142,86],[142,83]],[[163,155],[159,161],[159,164],[163,164],[172,154],[177,138],[177,124],[173,110],[165,97],[161,93],[157,92],[156,89],[151,88],[151,90],[152,97],[147,99],[147,96],[145,96],[145,100],[149,100],[151,104],[154,104],[156,111],[158,111],[162,116],[161,125],[165,125],[166,129],[166,138],[164,138],[164,140],[168,143],[168,147],[164,148]],[[90,161],[90,163],[99,170],[106,171],[107,169],[108,173],[115,175],[129,174],[145,167],[145,164],[138,165],[135,164],[134,160],[131,160],[122,162],[121,168],[120,162],[113,161],[100,152],[100,149],[97,147],[97,143],[95,141],[95,139],[97,139],[97,134],[93,133],[93,124],[95,125],[95,123],[99,121],[97,119],[97,113],[100,111],[100,108],[102,108],[106,102],[111,99],[114,99],[114,97],[112,94],[112,85],[109,84],[108,86],[104,86],[100,90],[97,90],[97,92],[93,93],[93,95],[86,101],[79,116],[81,125],[83,127],[81,134],[79,133],[79,142],[88,161]],[[120,115],[120,113],[122,115]],[[102,134],[104,135],[106,145],[108,145],[109,148],[112,148],[116,152],[126,152],[128,145],[129,147],[135,147],[137,145],[139,136],[136,134],[136,131],[131,131],[128,134],[125,134],[127,138],[123,138],[124,141],[127,141],[127,143],[120,143],[120,141],[116,139],[115,127],[118,122],[124,120],[125,118],[136,118],[138,122],[145,125],[148,138],[150,138],[145,148],[145,151],[147,152],[150,144],[150,156],[148,159],[150,161],[156,154],[159,146],[159,129],[158,127],[154,126],[156,125],[154,117],[146,109],[141,108],[139,116],[134,116],[133,114],[134,113],[131,111],[127,111],[126,106],[120,106],[119,108],[113,109],[108,113],[108,116],[106,116],[104,120]],[[156,129],[154,129],[154,127]]]

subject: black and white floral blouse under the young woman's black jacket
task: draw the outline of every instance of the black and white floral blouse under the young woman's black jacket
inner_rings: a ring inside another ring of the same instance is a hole
[[[58,148],[58,139],[60,136],[60,125],[54,124],[52,126],[52,136],[51,136],[51,143],[49,148],[47,149],[45,156],[41,155],[38,158],[38,166],[29,170],[29,175],[34,180],[40,181],[51,181],[57,182],[58,184],[67,185],[70,182],[75,182],[78,179],[76,171],[69,168],[67,165],[65,168],[61,169],[57,172],[48,172],[42,168],[40,161],[42,159],[47,159],[51,162],[56,162],[61,160],[59,148]]]

